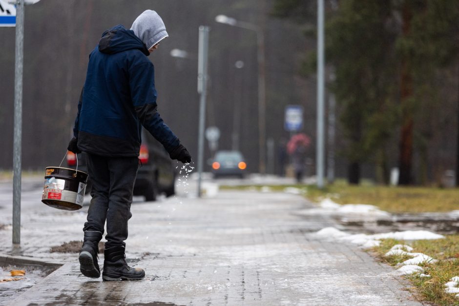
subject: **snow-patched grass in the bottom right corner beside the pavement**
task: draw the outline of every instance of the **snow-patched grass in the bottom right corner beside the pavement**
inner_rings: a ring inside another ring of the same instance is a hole
[[[384,257],[384,254],[396,244],[407,244],[394,239],[382,240],[381,245],[371,249],[381,261],[396,265],[406,256]],[[459,276],[459,235],[447,235],[445,239],[418,240],[408,243],[413,246],[413,252],[420,252],[438,260],[438,262],[424,264],[424,273],[430,278],[421,278],[415,273],[406,278],[414,285],[412,291],[417,293],[420,300],[435,305],[459,305],[459,298],[454,293],[445,292],[445,284],[454,276]]]

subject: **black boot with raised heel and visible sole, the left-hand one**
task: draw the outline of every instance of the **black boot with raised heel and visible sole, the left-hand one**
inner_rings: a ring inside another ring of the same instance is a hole
[[[80,271],[84,276],[99,278],[101,269],[97,263],[97,254],[99,253],[99,241],[102,239],[102,233],[96,231],[84,232],[83,246],[80,251]]]

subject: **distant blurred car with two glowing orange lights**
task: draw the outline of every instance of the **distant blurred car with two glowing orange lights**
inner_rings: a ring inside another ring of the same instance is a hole
[[[214,178],[221,176],[243,178],[247,171],[247,164],[239,151],[217,151],[211,166]]]

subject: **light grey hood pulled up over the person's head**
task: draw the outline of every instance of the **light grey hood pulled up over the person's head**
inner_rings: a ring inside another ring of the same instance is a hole
[[[163,20],[152,10],[140,14],[132,23],[131,30],[145,43],[147,49],[169,36]]]

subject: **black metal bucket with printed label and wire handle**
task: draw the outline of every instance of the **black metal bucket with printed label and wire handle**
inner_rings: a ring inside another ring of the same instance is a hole
[[[59,167],[46,167],[42,202],[57,209],[80,209],[88,175],[78,170],[78,157],[76,170],[61,167],[62,162]]]

